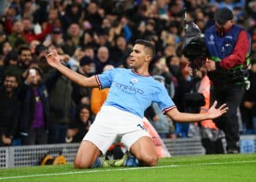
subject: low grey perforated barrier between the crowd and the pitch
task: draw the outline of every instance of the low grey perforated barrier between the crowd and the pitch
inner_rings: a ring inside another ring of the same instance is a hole
[[[173,157],[205,154],[200,138],[164,139],[163,141]],[[46,154],[56,157],[60,152],[66,157],[67,162],[73,162],[78,146],[79,143],[64,143],[0,147],[0,168],[39,165]],[[256,135],[241,135],[241,153],[255,151]]]

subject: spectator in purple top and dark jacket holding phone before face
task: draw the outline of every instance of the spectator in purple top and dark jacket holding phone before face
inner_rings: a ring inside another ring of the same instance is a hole
[[[37,66],[24,73],[25,83],[20,88],[21,110],[19,133],[23,145],[48,143],[49,103],[46,84]]]

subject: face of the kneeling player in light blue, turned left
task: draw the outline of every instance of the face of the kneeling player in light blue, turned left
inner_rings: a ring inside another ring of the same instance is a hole
[[[145,63],[147,58],[144,46],[141,44],[135,44],[132,48],[132,52],[129,54],[129,67],[140,68]]]

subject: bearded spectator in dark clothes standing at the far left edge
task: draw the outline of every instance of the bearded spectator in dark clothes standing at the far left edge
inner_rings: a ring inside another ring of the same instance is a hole
[[[0,87],[0,146],[10,146],[16,134],[20,109],[17,88],[18,76],[7,73]]]

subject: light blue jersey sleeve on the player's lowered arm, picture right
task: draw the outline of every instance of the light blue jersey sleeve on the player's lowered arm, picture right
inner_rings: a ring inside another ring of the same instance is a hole
[[[155,103],[158,104],[159,108],[161,108],[162,113],[165,114],[167,111],[170,111],[173,108],[176,108],[173,100],[167,93],[167,90],[164,85],[161,84],[159,87],[159,92],[157,92]]]

